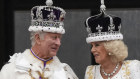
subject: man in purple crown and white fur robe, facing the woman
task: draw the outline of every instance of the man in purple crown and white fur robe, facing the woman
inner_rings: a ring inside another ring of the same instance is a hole
[[[71,67],[61,63],[56,54],[61,45],[66,12],[52,6],[35,6],[31,10],[31,44],[23,53],[15,53],[0,72],[0,79],[78,79]]]

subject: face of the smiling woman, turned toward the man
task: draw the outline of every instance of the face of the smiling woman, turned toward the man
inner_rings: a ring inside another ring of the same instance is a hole
[[[91,44],[91,52],[95,57],[96,63],[104,63],[109,58],[109,55],[104,47],[103,42],[92,42]]]

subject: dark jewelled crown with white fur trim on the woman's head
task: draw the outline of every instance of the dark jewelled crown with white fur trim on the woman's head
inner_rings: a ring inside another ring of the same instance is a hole
[[[121,18],[105,13],[104,2],[101,2],[101,13],[86,19],[85,26],[88,32],[87,43],[97,41],[122,40]]]

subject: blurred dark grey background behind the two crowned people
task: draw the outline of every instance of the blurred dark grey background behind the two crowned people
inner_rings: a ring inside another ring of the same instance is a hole
[[[14,53],[30,48],[30,10],[45,5],[46,0],[0,0],[0,69]],[[100,0],[53,0],[54,6],[66,10],[62,45],[57,56],[69,64],[79,79],[84,79],[86,67],[96,64],[86,43],[84,21],[100,13]],[[122,19],[121,32],[128,45],[127,59],[140,60],[140,1],[105,0],[107,13]]]

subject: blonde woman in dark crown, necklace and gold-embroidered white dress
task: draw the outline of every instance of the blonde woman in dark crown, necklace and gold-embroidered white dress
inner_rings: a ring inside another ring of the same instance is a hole
[[[125,60],[128,50],[120,33],[121,19],[107,15],[103,4],[101,13],[85,22],[89,33],[86,41],[92,45],[91,53],[99,64],[87,67],[85,79],[139,79],[140,61]]]

